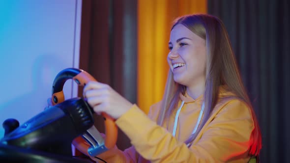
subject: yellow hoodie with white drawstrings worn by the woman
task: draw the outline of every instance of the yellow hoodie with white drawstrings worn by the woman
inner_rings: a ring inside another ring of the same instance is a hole
[[[225,89],[208,121],[188,148],[184,141],[191,135],[201,111],[203,95],[196,100],[180,94],[184,105],[179,112],[175,137],[172,135],[175,114],[169,131],[156,124],[161,102],[151,106],[148,116],[133,105],[116,120],[116,125],[131,140],[132,147],[117,147],[98,157],[107,163],[247,163],[252,144],[254,122],[251,110]]]

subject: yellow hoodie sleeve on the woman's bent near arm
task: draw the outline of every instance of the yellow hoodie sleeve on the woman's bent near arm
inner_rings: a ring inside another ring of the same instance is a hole
[[[136,105],[116,121],[136,151],[152,163],[230,162],[247,157],[254,129],[249,108],[239,100],[223,106],[190,148],[149,119]],[[184,126],[186,127],[186,126]]]

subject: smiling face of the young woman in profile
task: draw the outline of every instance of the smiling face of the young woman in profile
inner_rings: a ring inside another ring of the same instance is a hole
[[[187,87],[204,84],[205,40],[178,24],[171,31],[169,49],[167,60],[174,81]]]

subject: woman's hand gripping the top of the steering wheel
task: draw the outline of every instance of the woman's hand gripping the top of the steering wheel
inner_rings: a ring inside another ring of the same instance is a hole
[[[84,87],[84,97],[97,114],[107,113],[117,119],[132,107],[132,104],[109,85],[91,81]]]

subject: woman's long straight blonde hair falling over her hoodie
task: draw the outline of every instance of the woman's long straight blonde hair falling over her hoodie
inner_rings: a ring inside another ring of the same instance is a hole
[[[192,32],[203,38],[206,41],[207,52],[205,68],[206,81],[203,94],[203,119],[196,133],[191,135],[185,141],[185,143],[191,144],[199,134],[205,122],[208,120],[212,109],[217,104],[219,86],[227,85],[228,89],[234,93],[237,98],[247,103],[251,109],[255,129],[252,132],[253,143],[251,145],[249,154],[254,156],[258,155],[261,150],[260,127],[255,115],[255,111],[251,105],[251,101],[241,80],[235,57],[232,52],[232,46],[229,40],[228,32],[224,27],[224,24],[217,17],[206,14],[186,15],[177,18],[174,21],[172,29],[177,24],[184,25]],[[173,73],[169,71],[161,110],[157,119],[158,125],[162,126],[165,122],[165,119],[169,120],[169,116],[177,107],[179,94],[185,94],[185,91],[186,87],[176,83],[173,79]]]

